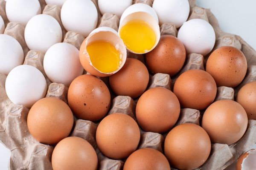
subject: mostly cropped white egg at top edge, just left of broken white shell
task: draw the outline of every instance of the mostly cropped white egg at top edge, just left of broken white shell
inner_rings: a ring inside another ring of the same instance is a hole
[[[98,0],[99,11],[102,14],[111,13],[116,14],[118,17],[121,17],[125,9],[131,4],[132,0]]]

